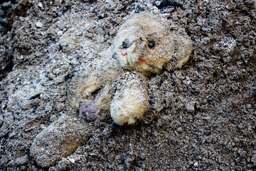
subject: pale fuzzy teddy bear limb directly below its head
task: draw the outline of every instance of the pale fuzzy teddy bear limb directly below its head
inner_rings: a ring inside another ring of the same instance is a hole
[[[110,115],[118,125],[133,125],[149,110],[149,95],[145,79],[139,73],[124,73],[117,78],[114,98],[110,104]]]

